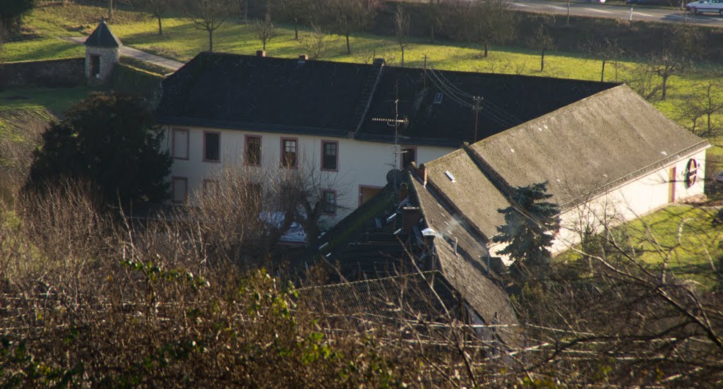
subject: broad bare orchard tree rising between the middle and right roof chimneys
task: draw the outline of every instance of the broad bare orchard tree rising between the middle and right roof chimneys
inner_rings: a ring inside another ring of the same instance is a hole
[[[346,54],[351,54],[349,36],[364,30],[375,19],[380,0],[326,0],[328,25],[335,33],[346,38]]]

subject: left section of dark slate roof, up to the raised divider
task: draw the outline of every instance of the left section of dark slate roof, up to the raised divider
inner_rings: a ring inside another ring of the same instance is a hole
[[[374,65],[201,53],[163,80],[165,124],[344,137]]]

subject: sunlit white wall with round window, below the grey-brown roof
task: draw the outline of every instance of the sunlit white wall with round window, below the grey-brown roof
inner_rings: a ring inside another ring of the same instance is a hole
[[[698,178],[693,186],[686,184],[688,160],[694,158],[698,163]],[[669,204],[669,171],[675,166],[675,201],[703,194],[706,150],[684,155],[675,163],[659,168],[639,179],[628,181],[619,187],[590,199],[560,215],[560,231],[552,244],[553,254],[561,252],[580,242],[580,231],[584,227],[599,228],[605,223],[622,223],[639,218]],[[554,199],[553,199],[554,200]],[[508,257],[497,255],[505,244],[489,247],[493,256],[502,257],[505,264]]]

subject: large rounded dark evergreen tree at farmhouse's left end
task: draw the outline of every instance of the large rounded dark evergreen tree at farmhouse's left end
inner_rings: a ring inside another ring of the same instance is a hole
[[[43,133],[29,187],[81,179],[98,185],[108,204],[163,202],[171,158],[161,150],[162,139],[150,107],[140,98],[91,93]]]

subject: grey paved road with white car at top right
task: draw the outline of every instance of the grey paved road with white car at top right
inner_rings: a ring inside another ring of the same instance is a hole
[[[510,0],[516,9],[532,12],[552,12],[565,15],[568,4],[565,1],[546,0]],[[620,4],[597,4],[594,2],[570,2],[570,14],[589,17],[609,17],[611,19],[629,20],[630,6]],[[633,20],[649,20],[656,22],[681,22],[688,20],[699,25],[723,27],[723,17],[714,14],[691,15],[686,12],[659,7],[633,7]]]

